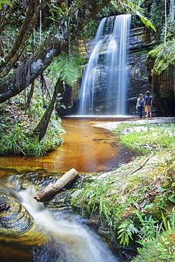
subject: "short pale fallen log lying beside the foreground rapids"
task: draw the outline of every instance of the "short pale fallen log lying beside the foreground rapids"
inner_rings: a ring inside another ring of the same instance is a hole
[[[64,186],[69,185],[72,181],[79,177],[79,173],[75,169],[69,170],[56,182],[48,184],[43,190],[36,194],[33,198],[38,202],[45,202],[52,198]]]

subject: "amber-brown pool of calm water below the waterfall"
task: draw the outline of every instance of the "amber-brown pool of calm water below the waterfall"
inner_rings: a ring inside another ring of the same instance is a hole
[[[105,120],[101,121],[105,122]],[[135,156],[134,152],[128,151],[119,144],[116,136],[110,131],[93,126],[98,123],[101,122],[95,119],[64,119],[62,125],[67,132],[62,135],[64,144],[61,147],[38,159],[3,156],[0,157],[0,164],[3,166],[39,166],[57,171],[69,171],[74,168],[81,173],[98,173],[111,171],[120,163]]]

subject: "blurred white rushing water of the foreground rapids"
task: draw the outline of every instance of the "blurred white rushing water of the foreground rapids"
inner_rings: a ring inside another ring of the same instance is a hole
[[[33,216],[38,227],[47,236],[47,245],[34,250],[35,262],[119,262],[108,246],[93,231],[86,227],[84,220],[64,212],[50,212],[43,203],[33,199],[32,187],[19,193],[22,204]]]

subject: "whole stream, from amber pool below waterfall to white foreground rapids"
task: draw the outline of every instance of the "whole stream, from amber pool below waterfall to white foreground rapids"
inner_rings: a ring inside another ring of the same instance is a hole
[[[103,120],[104,122],[108,120]],[[116,121],[116,119],[113,119]],[[43,169],[69,171],[77,169],[79,173],[99,173],[112,171],[119,164],[130,161],[135,152],[128,151],[118,143],[115,135],[103,128],[94,127],[101,123],[99,119],[65,118],[62,126],[66,133],[62,136],[64,144],[54,152],[39,159],[23,156],[2,156],[2,166],[39,166]],[[1,169],[1,175],[6,169]],[[95,230],[89,227],[88,221],[66,210],[50,211],[43,203],[33,199],[34,188],[19,190],[22,205],[26,207],[38,227],[45,234],[47,244],[32,247],[30,256],[19,259],[25,254],[18,251],[6,242],[6,249],[11,256],[4,262],[35,261],[35,262],[128,262],[131,260],[130,252],[124,249],[113,249],[101,239]],[[4,243],[0,249],[4,249]],[[13,251],[13,252],[12,252]],[[1,255],[0,255],[1,260]]]

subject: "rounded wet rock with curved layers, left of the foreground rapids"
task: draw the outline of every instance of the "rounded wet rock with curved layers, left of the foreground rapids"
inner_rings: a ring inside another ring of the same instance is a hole
[[[18,193],[16,193],[18,195]],[[17,198],[11,194],[11,188],[0,185],[0,242],[9,246],[11,241],[17,246],[29,246],[45,243],[33,217]],[[1,256],[0,256],[1,257]]]

